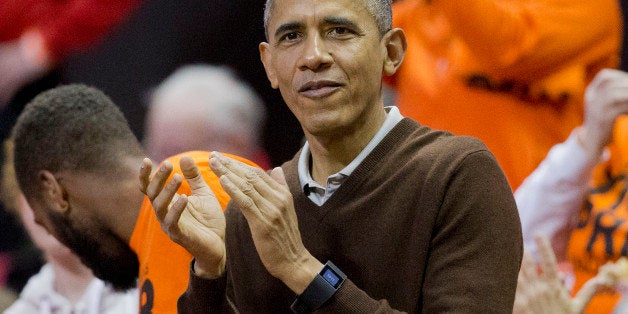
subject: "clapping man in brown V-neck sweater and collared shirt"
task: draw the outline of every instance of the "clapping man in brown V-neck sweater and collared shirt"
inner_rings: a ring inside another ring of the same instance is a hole
[[[390,1],[267,1],[262,62],[307,142],[268,173],[212,153],[224,215],[185,159],[189,197],[171,164],[140,171],[195,257],[180,312],[512,312],[512,192],[480,141],[383,106],[406,50],[391,19]]]

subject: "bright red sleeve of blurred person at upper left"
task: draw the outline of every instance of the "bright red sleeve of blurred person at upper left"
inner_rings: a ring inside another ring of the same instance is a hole
[[[102,38],[138,6],[140,0],[71,0],[39,12],[33,28],[45,40],[53,60],[85,48]],[[56,13],[56,14],[55,14]]]

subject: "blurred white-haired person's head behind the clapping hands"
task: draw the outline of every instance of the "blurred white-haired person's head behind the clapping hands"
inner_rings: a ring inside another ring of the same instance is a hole
[[[227,67],[187,65],[150,98],[144,144],[153,160],[190,150],[217,150],[270,167],[262,149],[265,107]]]

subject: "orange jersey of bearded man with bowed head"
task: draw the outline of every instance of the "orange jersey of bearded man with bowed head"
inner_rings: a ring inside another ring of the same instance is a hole
[[[214,191],[223,210],[229,202],[229,195],[222,189],[218,177],[209,168],[209,152],[193,151],[168,158],[174,166],[172,175],[181,173],[179,160],[189,155],[199,167],[205,182]],[[249,165],[257,165],[244,158],[223,153]],[[172,178],[172,175],[170,178]],[[178,193],[190,195],[190,186],[183,181]],[[141,313],[176,313],[177,299],[188,285],[188,275],[192,256],[183,247],[172,242],[161,230],[153,207],[144,198],[130,246],[140,262],[139,288],[141,291]]]

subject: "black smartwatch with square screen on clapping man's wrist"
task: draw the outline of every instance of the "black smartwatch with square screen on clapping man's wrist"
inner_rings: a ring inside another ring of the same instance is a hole
[[[327,261],[314,280],[297,296],[290,308],[295,313],[310,313],[329,300],[347,276],[332,262]]]

